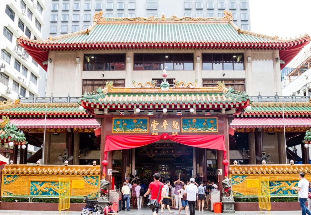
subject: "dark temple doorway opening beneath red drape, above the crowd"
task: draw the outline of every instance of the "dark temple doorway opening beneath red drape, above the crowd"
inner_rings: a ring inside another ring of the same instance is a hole
[[[186,181],[193,176],[193,147],[175,142],[157,142],[135,149],[135,171],[152,178],[160,172],[162,179],[179,177]]]

